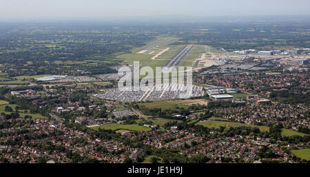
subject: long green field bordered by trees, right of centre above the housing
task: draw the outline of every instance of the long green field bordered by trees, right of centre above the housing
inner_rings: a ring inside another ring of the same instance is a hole
[[[258,125],[249,125],[245,123],[234,123],[234,122],[227,122],[227,121],[204,121],[204,122],[199,122],[196,123],[196,125],[203,125],[204,127],[241,127],[241,126],[246,126],[246,127],[259,127],[261,132],[269,132],[269,127],[266,126],[258,126]]]

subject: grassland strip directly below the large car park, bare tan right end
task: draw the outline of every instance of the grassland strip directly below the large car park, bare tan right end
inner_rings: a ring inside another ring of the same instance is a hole
[[[138,103],[139,106],[145,106],[149,109],[162,108],[163,110],[175,109],[177,107],[187,108],[192,104],[206,105],[204,99],[185,99],[185,100],[160,100],[147,103]]]

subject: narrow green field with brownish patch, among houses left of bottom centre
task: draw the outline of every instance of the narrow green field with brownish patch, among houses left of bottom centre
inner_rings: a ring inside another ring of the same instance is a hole
[[[100,125],[97,127],[92,127],[92,129],[112,129],[112,130],[119,130],[119,129],[126,129],[126,130],[132,130],[132,131],[144,131],[144,132],[149,132],[152,130],[152,128],[149,127],[144,127],[140,125],[124,125],[124,124],[118,124],[118,123],[109,123],[105,125]]]

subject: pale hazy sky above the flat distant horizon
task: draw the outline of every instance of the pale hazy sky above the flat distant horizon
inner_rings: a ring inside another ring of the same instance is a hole
[[[6,17],[310,15],[310,0],[0,0]]]

